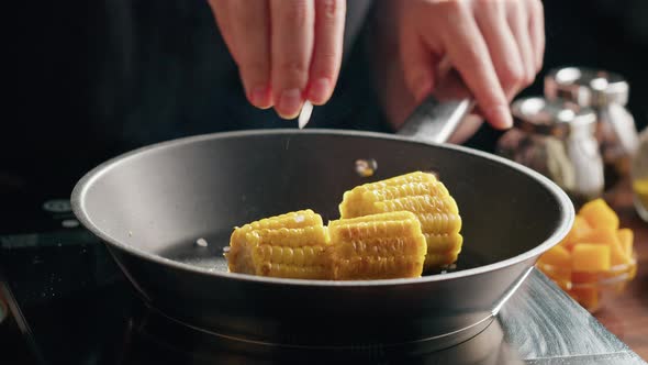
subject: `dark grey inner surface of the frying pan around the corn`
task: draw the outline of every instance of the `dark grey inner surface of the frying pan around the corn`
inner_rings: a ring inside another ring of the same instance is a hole
[[[373,158],[361,177],[356,161]],[[115,242],[225,272],[236,225],[311,208],[338,218],[343,192],[414,170],[435,172],[457,200],[463,250],[457,269],[527,252],[560,225],[559,198],[510,165],[403,140],[325,133],[210,136],[166,144],[111,163],[89,180],[81,206]],[[206,244],[206,246],[205,246]]]

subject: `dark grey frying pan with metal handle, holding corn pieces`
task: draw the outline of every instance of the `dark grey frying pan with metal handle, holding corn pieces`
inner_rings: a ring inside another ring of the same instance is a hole
[[[403,135],[273,130],[163,142],[89,172],[74,212],[152,309],[195,329],[289,349],[449,346],[492,321],[574,215],[541,175],[439,143],[470,107],[431,97]],[[355,163],[367,158],[378,169],[361,177]],[[353,281],[227,273],[234,226],[305,208],[337,219],[345,190],[414,170],[435,172],[457,200],[465,241],[455,269]]]

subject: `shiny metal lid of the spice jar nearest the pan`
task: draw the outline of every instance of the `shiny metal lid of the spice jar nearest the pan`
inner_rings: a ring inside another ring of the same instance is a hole
[[[566,136],[576,131],[595,130],[596,114],[563,99],[539,97],[517,99],[511,106],[515,126],[536,134]]]

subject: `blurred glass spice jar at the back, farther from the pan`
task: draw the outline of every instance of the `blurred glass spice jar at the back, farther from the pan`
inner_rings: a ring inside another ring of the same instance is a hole
[[[596,140],[604,164],[605,189],[629,176],[638,133],[626,110],[629,86],[618,74],[590,68],[552,69],[545,77],[545,97],[561,98],[596,113]]]

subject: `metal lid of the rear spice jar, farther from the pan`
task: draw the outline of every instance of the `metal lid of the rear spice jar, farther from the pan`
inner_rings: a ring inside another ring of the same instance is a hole
[[[545,97],[562,98],[581,107],[625,106],[629,86],[618,74],[592,68],[555,68],[545,77]]]

